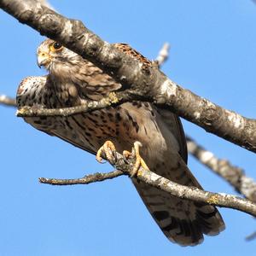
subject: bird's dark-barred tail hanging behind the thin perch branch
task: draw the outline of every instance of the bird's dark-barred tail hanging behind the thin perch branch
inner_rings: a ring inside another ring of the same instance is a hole
[[[181,165],[177,170],[168,173],[162,170],[160,175],[202,189],[182,158],[179,161]],[[157,171],[160,173],[159,169]],[[203,234],[216,236],[224,230],[224,221],[216,207],[177,198],[137,179],[132,181],[148,211],[170,241],[181,246],[195,246],[203,241]]]

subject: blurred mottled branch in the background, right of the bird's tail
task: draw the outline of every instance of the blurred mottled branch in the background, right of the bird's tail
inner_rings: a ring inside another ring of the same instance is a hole
[[[195,156],[203,165],[218,176],[223,177],[247,199],[256,201],[256,183],[253,178],[247,177],[241,168],[232,166],[228,160],[218,159],[212,152],[207,151],[188,136],[187,144],[189,153]]]

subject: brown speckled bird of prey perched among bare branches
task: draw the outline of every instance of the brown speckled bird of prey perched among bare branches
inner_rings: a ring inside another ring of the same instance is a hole
[[[153,67],[154,61],[132,49],[129,44],[113,46],[120,52]],[[60,43],[47,38],[37,50],[38,67],[48,74],[28,77],[20,82],[18,108],[67,108],[88,100],[98,101],[122,84],[101,68]],[[45,133],[97,154],[106,142],[118,152],[142,143],[140,156],[152,172],[175,183],[202,189],[187,166],[188,152],[181,120],[168,108],[150,102],[125,102],[70,116],[25,117],[25,121]],[[175,197],[154,188],[136,176],[131,177],[143,203],[166,237],[181,246],[200,244],[204,235],[215,236],[224,230],[218,209],[203,202]]]

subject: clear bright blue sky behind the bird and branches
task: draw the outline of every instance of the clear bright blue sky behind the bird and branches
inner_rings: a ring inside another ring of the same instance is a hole
[[[249,0],[51,1],[68,17],[83,20],[108,42],[127,42],[154,59],[172,44],[164,72],[184,88],[224,108],[255,118],[256,5]],[[42,75],[38,32],[0,12],[0,93],[15,96],[20,80]],[[167,241],[128,177],[88,186],[51,187],[38,177],[83,177],[110,171],[94,156],[49,137],[0,107],[0,255],[254,255],[255,220],[220,209],[226,230],[198,247]],[[183,122],[206,148],[256,178],[253,153]],[[234,189],[193,159],[191,170],[205,189]]]

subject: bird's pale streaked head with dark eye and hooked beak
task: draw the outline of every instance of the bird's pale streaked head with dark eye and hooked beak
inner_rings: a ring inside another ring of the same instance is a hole
[[[81,57],[58,42],[46,39],[39,45],[38,67],[45,67],[49,73],[68,73],[69,64],[76,64]],[[63,65],[64,64],[64,65]]]

